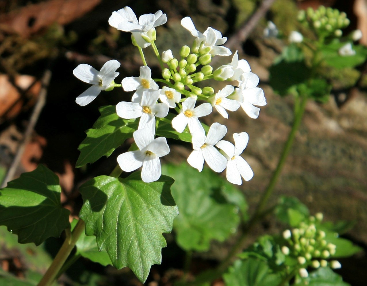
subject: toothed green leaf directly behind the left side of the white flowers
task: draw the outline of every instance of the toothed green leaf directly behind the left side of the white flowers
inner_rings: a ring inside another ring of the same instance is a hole
[[[109,157],[138,128],[136,119],[123,119],[116,113],[116,106],[99,108],[101,116],[92,129],[87,130],[87,137],[79,145],[80,155],[76,167],[93,163],[102,156]]]

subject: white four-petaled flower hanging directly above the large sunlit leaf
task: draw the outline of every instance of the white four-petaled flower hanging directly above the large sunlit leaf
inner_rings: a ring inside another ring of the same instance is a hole
[[[167,139],[165,137],[154,139],[153,133],[147,128],[135,131],[133,136],[139,150],[129,151],[117,157],[121,170],[132,172],[143,166],[141,170],[143,181],[150,183],[158,180],[161,175],[159,158],[170,153]]]

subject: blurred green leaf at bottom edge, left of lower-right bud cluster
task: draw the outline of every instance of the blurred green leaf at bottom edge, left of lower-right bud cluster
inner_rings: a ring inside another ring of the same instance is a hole
[[[281,282],[279,274],[272,273],[265,261],[256,258],[236,260],[223,279],[228,286],[277,286]]]

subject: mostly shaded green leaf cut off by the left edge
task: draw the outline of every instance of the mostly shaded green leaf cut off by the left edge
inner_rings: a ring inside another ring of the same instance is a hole
[[[69,210],[62,208],[58,177],[43,165],[23,173],[0,190],[0,225],[18,235],[19,243],[41,244],[69,227]]]

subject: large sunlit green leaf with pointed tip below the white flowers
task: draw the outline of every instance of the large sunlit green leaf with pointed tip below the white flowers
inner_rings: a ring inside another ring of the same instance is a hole
[[[150,266],[161,263],[162,233],[172,230],[178,214],[171,196],[172,178],[144,183],[139,172],[126,179],[99,176],[80,187],[80,218],[86,234],[97,237],[116,268],[128,266],[142,282]]]

